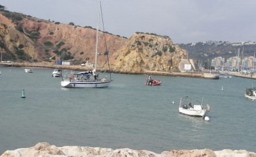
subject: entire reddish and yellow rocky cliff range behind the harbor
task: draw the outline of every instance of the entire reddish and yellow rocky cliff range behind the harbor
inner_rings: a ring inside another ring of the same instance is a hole
[[[4,10],[0,13],[0,51],[4,60],[54,64],[61,59],[76,65],[86,60],[95,62],[96,30],[92,27],[40,20]],[[99,31],[99,68],[108,68],[104,39],[110,66],[115,72],[176,72],[180,59],[188,59],[186,50],[174,45],[167,36],[135,33],[126,39]]]

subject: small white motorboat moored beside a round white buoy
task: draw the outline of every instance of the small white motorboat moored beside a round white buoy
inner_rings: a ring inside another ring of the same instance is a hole
[[[202,101],[203,101],[203,99],[204,98],[202,98]],[[182,114],[189,115],[189,116],[196,116],[196,117],[204,118],[204,117],[206,117],[207,113],[210,111],[210,105],[207,104],[207,105],[203,106],[202,101],[201,101],[201,104],[193,104],[191,98],[188,98],[188,96],[186,96],[185,98],[180,98],[179,112]],[[199,101],[197,101],[197,102],[199,102]],[[185,103],[188,103],[188,105]],[[205,120],[206,120],[206,118],[205,118]]]

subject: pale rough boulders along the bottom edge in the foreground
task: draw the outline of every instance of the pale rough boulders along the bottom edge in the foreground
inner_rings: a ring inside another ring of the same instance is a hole
[[[0,157],[256,157],[256,153],[246,150],[193,149],[170,150],[161,153],[149,150],[133,150],[129,148],[93,148],[88,146],[57,147],[46,142],[40,142],[31,148],[7,150]]]

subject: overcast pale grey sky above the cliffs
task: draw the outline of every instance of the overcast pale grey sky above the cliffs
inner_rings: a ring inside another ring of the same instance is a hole
[[[9,11],[82,27],[96,27],[98,0],[1,0]],[[102,0],[105,31],[136,31],[174,43],[256,41],[256,0]]]

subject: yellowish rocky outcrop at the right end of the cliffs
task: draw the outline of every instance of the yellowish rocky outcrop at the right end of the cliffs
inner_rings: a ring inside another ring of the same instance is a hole
[[[187,58],[188,53],[167,36],[135,33],[111,58],[110,65],[122,72],[177,72],[180,60]]]

